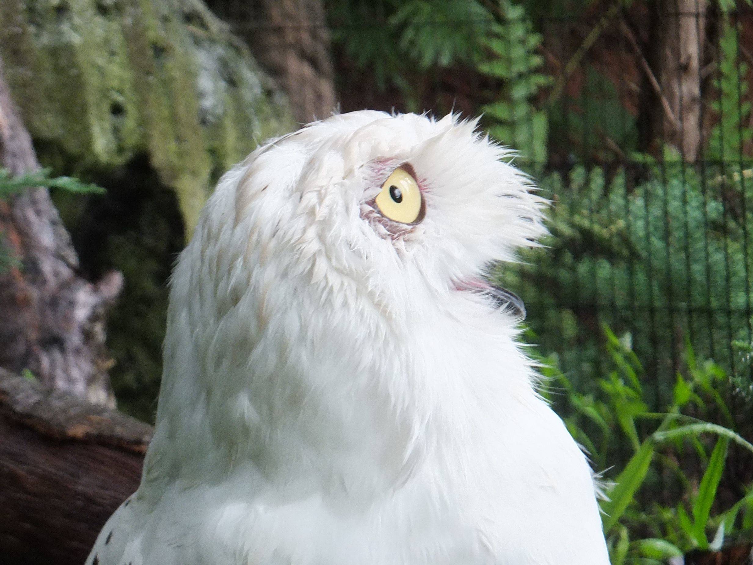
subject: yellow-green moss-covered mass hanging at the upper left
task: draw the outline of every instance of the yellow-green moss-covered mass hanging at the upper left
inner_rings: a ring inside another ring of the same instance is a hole
[[[0,54],[44,163],[86,176],[147,154],[188,233],[218,176],[294,127],[197,0],[3,0]]]

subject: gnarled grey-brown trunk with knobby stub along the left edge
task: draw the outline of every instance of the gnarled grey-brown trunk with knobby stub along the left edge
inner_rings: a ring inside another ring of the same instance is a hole
[[[31,137],[11,100],[0,60],[0,164],[39,170]],[[45,188],[0,202],[0,234],[17,264],[0,273],[0,367],[28,368],[42,383],[114,405],[107,376],[105,310],[123,286],[110,272],[92,284]]]

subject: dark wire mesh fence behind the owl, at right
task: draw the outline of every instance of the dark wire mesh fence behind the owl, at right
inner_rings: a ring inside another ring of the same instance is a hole
[[[251,43],[273,27],[262,59],[328,32],[342,111],[483,113],[553,203],[547,248],[498,276],[581,386],[608,370],[605,326],[657,410],[691,352],[750,386],[747,4],[339,0],[275,24],[264,2],[209,5]]]

